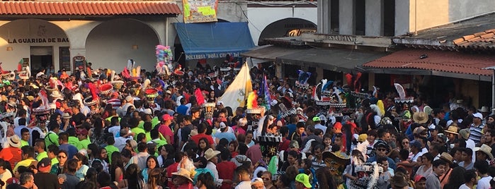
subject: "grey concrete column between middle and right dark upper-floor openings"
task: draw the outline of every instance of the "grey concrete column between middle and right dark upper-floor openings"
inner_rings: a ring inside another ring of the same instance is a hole
[[[383,35],[383,0],[367,0],[365,4],[365,35]]]

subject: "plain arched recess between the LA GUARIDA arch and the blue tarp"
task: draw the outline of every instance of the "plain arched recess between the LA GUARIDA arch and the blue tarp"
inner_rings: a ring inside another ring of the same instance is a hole
[[[86,39],[86,61],[93,69],[103,67],[120,72],[133,59],[137,66],[154,71],[157,33],[139,20],[116,19],[96,26]]]

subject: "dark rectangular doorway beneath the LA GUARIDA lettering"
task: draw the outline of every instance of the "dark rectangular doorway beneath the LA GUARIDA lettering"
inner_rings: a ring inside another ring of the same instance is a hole
[[[42,69],[45,69],[45,74],[55,73],[52,46],[31,46],[30,55],[31,73],[33,75],[36,75]]]

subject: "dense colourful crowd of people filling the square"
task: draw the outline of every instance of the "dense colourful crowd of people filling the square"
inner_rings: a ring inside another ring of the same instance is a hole
[[[495,185],[495,116],[487,107],[450,99],[432,109],[421,95],[399,103],[389,92],[342,114],[314,103],[315,86],[294,87],[293,80],[254,67],[254,90],[266,83],[270,96],[256,98],[265,111],[255,115],[219,100],[234,69],[199,65],[183,73],[143,70],[126,78],[88,65],[72,75],[62,70],[4,80],[2,188]],[[263,82],[264,75],[271,79]],[[113,87],[102,87],[106,83]],[[332,87],[345,88],[341,82]],[[157,95],[147,92],[151,88]],[[278,102],[289,103],[284,109]],[[211,115],[205,103],[215,104]],[[261,135],[281,140],[272,148]]]

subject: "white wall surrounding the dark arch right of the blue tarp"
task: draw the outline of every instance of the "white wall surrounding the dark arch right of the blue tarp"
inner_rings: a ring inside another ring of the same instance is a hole
[[[273,8],[247,8],[247,16],[249,18],[249,31],[251,37],[253,37],[254,44],[258,44],[258,39],[266,28],[275,21],[282,20],[284,18],[302,18],[309,20],[314,24],[318,23],[318,11],[317,7],[314,8],[286,8],[286,7],[273,7]]]

